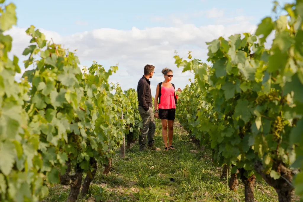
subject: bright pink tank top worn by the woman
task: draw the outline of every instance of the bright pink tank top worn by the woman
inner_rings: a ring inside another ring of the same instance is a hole
[[[171,86],[170,88],[166,88],[165,86],[161,86],[161,98],[158,106],[159,109],[175,109],[175,88]]]

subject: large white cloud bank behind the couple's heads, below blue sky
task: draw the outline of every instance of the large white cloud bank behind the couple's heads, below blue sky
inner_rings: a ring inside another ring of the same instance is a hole
[[[201,27],[183,24],[179,21],[171,27],[145,29],[132,27],[130,30],[102,28],[68,36],[61,36],[56,32],[43,29],[40,31],[46,35],[47,39],[52,38],[55,43],[64,44],[65,48],[69,48],[71,51],[78,49],[76,55],[78,55],[81,65],[90,66],[95,60],[98,61],[98,64],[109,68],[109,66],[119,63],[119,70],[111,76],[110,81],[119,82],[123,90],[137,89],[144,66],[146,64],[155,65],[156,73],[151,78],[151,89],[154,95],[156,85],[163,80],[162,68],[168,67],[173,70],[172,82],[176,88],[184,88],[189,83],[188,79],[194,78],[191,73],[181,73],[182,68],[176,67],[173,58],[175,50],[183,58],[187,58],[188,51],[192,51],[193,58],[206,61],[208,50],[205,42],[220,36],[228,37],[235,33],[255,29],[256,25],[248,21],[231,21],[231,24],[226,26],[206,25]],[[17,55],[20,61],[25,59],[21,55],[30,41],[25,30],[25,28],[14,27],[7,32],[13,37],[12,53]],[[20,78],[20,75],[16,78]]]

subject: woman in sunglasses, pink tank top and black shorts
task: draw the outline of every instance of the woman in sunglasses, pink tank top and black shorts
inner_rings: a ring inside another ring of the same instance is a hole
[[[170,81],[173,77],[172,70],[164,68],[162,70],[164,81],[157,85],[156,95],[154,100],[155,105],[155,118],[161,119],[162,124],[162,137],[165,144],[165,151],[169,149],[175,149],[172,143],[172,136],[174,133],[174,120],[176,112],[176,104],[178,95],[175,93],[175,85]],[[181,89],[178,88],[178,92]],[[159,98],[159,102],[158,102]],[[159,103],[159,106],[158,106]],[[168,144],[167,144],[167,126],[168,126]]]

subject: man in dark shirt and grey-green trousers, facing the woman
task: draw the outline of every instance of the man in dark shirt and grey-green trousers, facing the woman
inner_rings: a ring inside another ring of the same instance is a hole
[[[154,75],[155,66],[145,65],[144,75],[138,82],[138,102],[139,113],[143,121],[143,128],[139,135],[139,147],[140,151],[146,149],[146,135],[147,135],[147,147],[151,150],[159,151],[160,148],[154,145],[154,135],[156,130],[155,114],[152,110],[152,97],[149,78]]]

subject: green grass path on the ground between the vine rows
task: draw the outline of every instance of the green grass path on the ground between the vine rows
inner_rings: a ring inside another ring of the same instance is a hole
[[[104,176],[99,167],[88,196],[79,201],[244,201],[243,183],[239,181],[237,192],[230,191],[226,180],[219,179],[222,168],[211,164],[211,153],[191,143],[177,121],[176,149],[169,151],[163,151],[161,123],[156,124],[155,145],[161,151],[139,152],[138,142],[126,151],[125,159],[116,151],[111,172]],[[68,192],[68,186],[55,185],[44,201],[66,201]],[[264,180],[257,180],[255,199],[277,201],[278,197]]]

